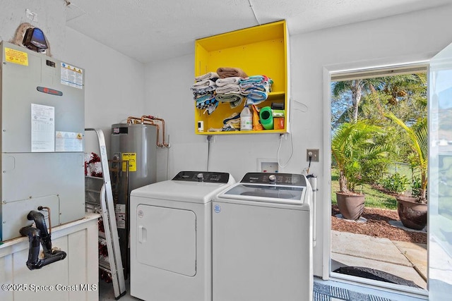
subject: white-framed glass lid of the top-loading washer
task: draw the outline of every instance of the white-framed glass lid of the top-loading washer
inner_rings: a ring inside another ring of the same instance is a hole
[[[306,189],[304,186],[295,185],[237,183],[220,193],[218,198],[302,205]]]

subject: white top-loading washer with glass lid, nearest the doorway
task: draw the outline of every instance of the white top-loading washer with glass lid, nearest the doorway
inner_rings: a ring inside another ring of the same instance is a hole
[[[305,176],[246,173],[213,202],[213,301],[312,300]]]

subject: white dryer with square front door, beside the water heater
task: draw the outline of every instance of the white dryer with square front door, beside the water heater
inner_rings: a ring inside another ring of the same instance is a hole
[[[234,183],[229,173],[181,171],[132,190],[133,297],[212,300],[212,200]]]

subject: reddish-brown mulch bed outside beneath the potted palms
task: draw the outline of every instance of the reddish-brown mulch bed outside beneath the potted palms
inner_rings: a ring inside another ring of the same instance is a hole
[[[339,214],[337,205],[331,207],[331,229],[357,234],[373,236],[375,238],[388,238],[405,242],[427,243],[427,233],[405,231],[401,228],[391,226],[389,221],[399,221],[397,210],[364,208],[362,217],[367,219],[366,223],[345,221],[335,217]]]

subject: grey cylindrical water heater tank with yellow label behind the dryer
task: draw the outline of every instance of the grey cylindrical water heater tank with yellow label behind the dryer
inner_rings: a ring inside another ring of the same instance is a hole
[[[112,125],[112,159],[129,161],[129,192],[155,183],[157,127],[148,124]]]

